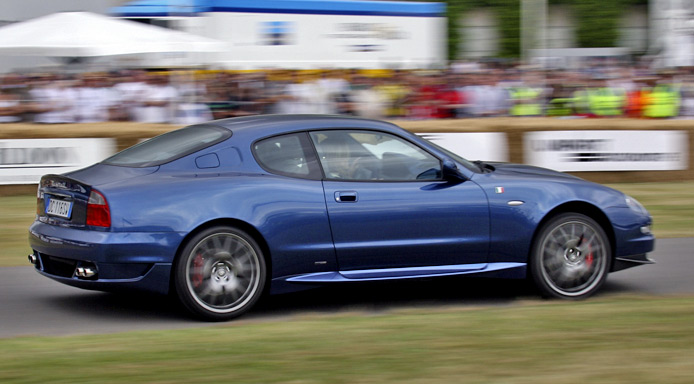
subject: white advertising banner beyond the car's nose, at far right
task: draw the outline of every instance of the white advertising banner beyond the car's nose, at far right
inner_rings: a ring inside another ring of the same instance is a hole
[[[524,135],[525,163],[563,172],[687,169],[685,131],[543,131]]]

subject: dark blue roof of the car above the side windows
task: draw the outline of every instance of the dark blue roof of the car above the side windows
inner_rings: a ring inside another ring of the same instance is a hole
[[[385,121],[337,115],[256,115],[215,120],[204,125],[229,129],[234,136],[266,137],[282,133],[331,128],[361,128],[402,133],[403,130]]]

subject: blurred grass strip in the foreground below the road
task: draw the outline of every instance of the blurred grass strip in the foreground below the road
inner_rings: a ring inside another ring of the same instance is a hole
[[[694,298],[307,315],[0,340],[5,383],[691,383]]]

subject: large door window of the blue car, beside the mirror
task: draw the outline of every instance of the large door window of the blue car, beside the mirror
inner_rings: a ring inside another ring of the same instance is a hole
[[[311,132],[325,177],[358,181],[441,179],[441,163],[397,136],[373,131]]]

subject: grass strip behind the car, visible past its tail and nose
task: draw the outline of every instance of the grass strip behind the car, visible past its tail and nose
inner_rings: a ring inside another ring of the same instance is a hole
[[[611,184],[643,203],[659,238],[694,237],[694,182]],[[34,194],[0,196],[0,267],[28,265],[27,228],[34,220]]]

